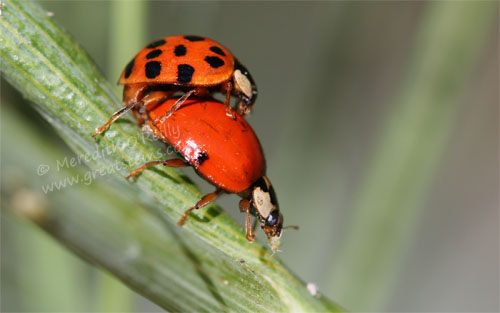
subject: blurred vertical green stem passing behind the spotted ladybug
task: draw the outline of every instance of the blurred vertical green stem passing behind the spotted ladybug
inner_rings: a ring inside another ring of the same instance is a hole
[[[108,47],[108,77],[117,81],[124,64],[144,43],[147,34],[147,1],[111,1]],[[116,93],[121,86],[115,85]],[[97,310],[100,312],[134,311],[134,294],[108,273],[99,272]]]

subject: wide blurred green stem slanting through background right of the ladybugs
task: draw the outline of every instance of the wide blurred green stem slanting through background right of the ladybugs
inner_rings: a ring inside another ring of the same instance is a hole
[[[407,77],[390,107],[353,204],[331,276],[352,311],[384,310],[456,122],[469,72],[484,52],[494,2],[431,2]],[[472,105],[472,104],[471,104]]]

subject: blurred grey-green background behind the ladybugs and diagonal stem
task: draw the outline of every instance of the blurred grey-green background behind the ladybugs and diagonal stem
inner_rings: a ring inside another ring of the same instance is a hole
[[[279,257],[321,293],[351,311],[499,310],[498,2],[41,5],[112,82],[167,35],[211,37],[245,63],[260,92],[249,121],[285,221],[301,227]],[[72,154],[1,87],[11,199],[23,141],[9,122]],[[218,203],[243,225],[236,196]],[[160,311],[10,206],[2,200],[2,311]]]

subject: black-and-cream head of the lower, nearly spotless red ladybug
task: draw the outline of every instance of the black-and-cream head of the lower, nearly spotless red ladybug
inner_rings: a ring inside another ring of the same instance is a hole
[[[283,215],[280,213],[273,186],[266,176],[262,176],[253,184],[250,204],[252,212],[260,221],[260,227],[269,239],[271,249],[277,251],[283,229]]]

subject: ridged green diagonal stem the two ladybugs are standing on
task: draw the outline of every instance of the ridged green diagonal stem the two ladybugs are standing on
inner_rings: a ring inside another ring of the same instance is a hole
[[[249,243],[241,225],[215,205],[192,214],[182,229],[173,227],[201,197],[179,171],[148,170],[134,188],[126,186],[123,177],[128,170],[158,159],[162,151],[154,142],[143,140],[138,127],[125,119],[97,141],[91,138],[95,127],[120,102],[88,56],[40,7],[30,1],[5,1],[0,32],[4,77],[34,102],[78,156],[87,157],[93,170],[108,170],[106,179],[121,186],[122,193],[140,195],[151,204],[156,218],[165,223],[165,229],[156,231],[170,232],[172,239],[160,242],[144,237],[150,232],[133,224],[140,218],[138,208],[134,208],[137,212],[121,212],[120,218],[118,212],[116,219],[109,217],[106,214],[118,198],[95,190],[85,195],[93,200],[91,207],[73,210],[79,202],[71,199],[72,188],[65,189],[68,199],[58,205],[64,210],[54,212],[50,219],[58,222],[40,224],[45,230],[166,309],[178,311],[191,305],[197,306],[196,311],[340,310],[322,296],[311,296],[269,249]],[[148,250],[142,249],[143,242]],[[120,251],[126,252],[124,258],[119,257]],[[176,268],[183,263],[191,264],[192,271]],[[207,278],[206,267],[217,272]],[[160,281],[164,276],[167,280]]]

